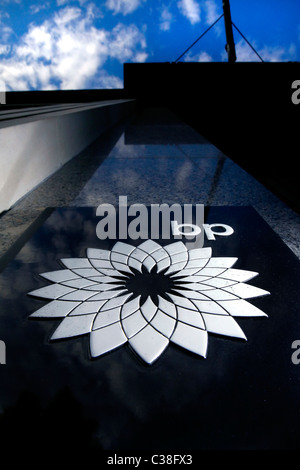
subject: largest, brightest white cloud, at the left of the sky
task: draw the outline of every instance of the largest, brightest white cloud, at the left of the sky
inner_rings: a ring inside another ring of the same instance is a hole
[[[66,7],[41,25],[32,25],[10,56],[2,57],[0,76],[8,90],[121,87],[105,70],[111,58],[144,62],[146,41],[135,25],[96,28],[91,11]],[[5,51],[4,51],[5,52]]]

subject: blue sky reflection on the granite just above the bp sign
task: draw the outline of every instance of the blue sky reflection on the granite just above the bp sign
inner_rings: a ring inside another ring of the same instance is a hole
[[[182,203],[203,202],[217,165],[217,159],[214,160],[210,165],[205,159],[195,165],[186,157],[176,158],[175,163],[168,157],[107,159],[72,204],[117,204],[119,195],[127,195],[128,201],[132,202],[154,204],[163,200],[171,203],[174,202],[174,190],[175,202],[178,201],[177,194]]]

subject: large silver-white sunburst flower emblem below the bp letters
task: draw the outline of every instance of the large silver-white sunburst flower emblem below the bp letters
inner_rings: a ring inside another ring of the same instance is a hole
[[[269,292],[246,284],[258,273],[236,261],[181,241],[89,248],[41,274],[52,284],[29,295],[51,302],[31,317],[62,319],[52,340],[88,334],[91,357],[128,343],[152,364],[172,342],[205,358],[209,333],[246,340],[236,318],[267,316],[247,299]]]

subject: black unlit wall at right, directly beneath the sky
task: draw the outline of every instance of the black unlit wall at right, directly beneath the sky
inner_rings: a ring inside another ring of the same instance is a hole
[[[168,106],[300,211],[297,79],[293,62],[124,65],[127,96]]]

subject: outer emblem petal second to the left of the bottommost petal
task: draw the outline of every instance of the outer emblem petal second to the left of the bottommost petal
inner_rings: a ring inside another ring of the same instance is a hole
[[[84,335],[92,328],[96,314],[80,315],[78,317],[66,317],[58,325],[51,339],[70,338],[71,336]]]

